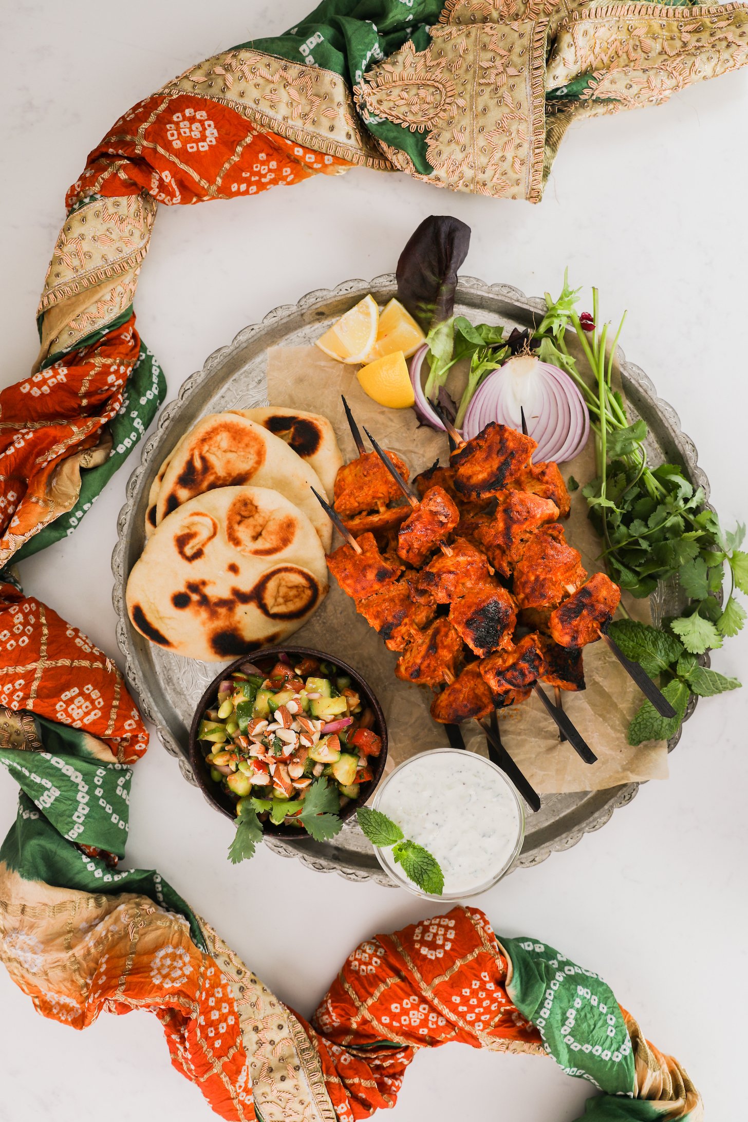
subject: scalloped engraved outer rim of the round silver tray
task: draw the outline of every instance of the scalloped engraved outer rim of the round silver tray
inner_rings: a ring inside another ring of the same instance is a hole
[[[140,462],[133,469],[126,487],[126,502],[122,505],[117,518],[117,545],[112,552],[112,573],[114,585],[112,588],[112,604],[117,614],[117,644],[124,659],[124,675],[132,688],[138,705],[144,716],[156,727],[159,741],[169,753],[178,760],[179,770],[184,778],[192,784],[195,779],[192,774],[186,755],[179,748],[172,736],[163,717],[158,711],[158,706],[145,680],[137,654],[129,642],[129,629],[131,625],[127,616],[124,606],[124,586],[127,570],[127,548],[128,539],[126,531],[132,521],[135,508],[144,489],[142,479],[148,468],[154,449],[170,426],[173,421],[183,412],[188,411],[191,399],[196,395],[198,387],[205,383],[216,369],[223,366],[234,353],[241,351],[244,346],[258,333],[267,333],[269,328],[276,328],[284,320],[297,321],[297,325],[303,322],[303,318],[314,309],[315,305],[330,302],[336,297],[350,295],[366,295],[369,292],[377,292],[395,285],[395,274],[384,273],[367,282],[361,278],[344,280],[334,288],[315,288],[302,296],[296,304],[281,304],[274,307],[264,319],[242,328],[232,341],[223,347],[219,347],[205,359],[203,367],[184,380],[175,398],[168,402],[161,410],[156,427],[142,444]],[[478,277],[460,276],[458,285],[458,297],[470,295],[472,297],[499,297],[516,309],[519,314],[526,318],[536,312],[545,312],[545,301],[542,297],[528,297],[519,288],[508,284],[488,284]],[[290,330],[290,329],[289,329]],[[687,475],[694,486],[702,487],[705,499],[709,499],[709,480],[698,462],[696,447],[689,435],[681,429],[681,422],[673,406],[658,397],[652,379],[644,370],[632,362],[627,361],[624,351],[619,348],[618,360],[620,364],[621,377],[629,385],[648,401],[654,413],[656,413],[662,427],[665,430],[669,443],[683,461]],[[691,697],[684,720],[687,720],[693,712],[698,698]],[[681,737],[681,728],[668,742],[668,751],[677,744]],[[604,806],[588,819],[582,820],[575,828],[569,829],[558,835],[547,845],[538,845],[520,854],[515,868],[527,868],[539,865],[546,861],[552,853],[560,853],[575,846],[585,834],[601,829],[620,807],[628,806],[637,794],[639,783],[627,783],[618,788],[610,788],[610,799]],[[277,854],[284,857],[297,857],[310,868],[321,873],[335,872],[350,881],[373,881],[378,884],[395,886],[394,882],[381,871],[372,854],[371,871],[362,871],[359,867],[347,866],[345,864],[326,856],[315,849],[310,849],[304,842],[284,842],[275,838],[267,838],[266,844]],[[376,866],[376,867],[375,867]]]

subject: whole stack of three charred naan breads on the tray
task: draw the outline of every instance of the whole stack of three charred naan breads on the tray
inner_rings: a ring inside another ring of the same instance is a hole
[[[141,635],[205,662],[281,642],[327,591],[343,460],[326,417],[211,413],[172,450],[148,496],[146,546],[127,586]]]

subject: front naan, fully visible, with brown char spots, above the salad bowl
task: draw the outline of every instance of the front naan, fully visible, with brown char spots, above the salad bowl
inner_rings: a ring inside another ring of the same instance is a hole
[[[326,590],[320,537],[293,503],[265,487],[220,487],[157,526],[126,600],[153,643],[221,662],[285,640]]]

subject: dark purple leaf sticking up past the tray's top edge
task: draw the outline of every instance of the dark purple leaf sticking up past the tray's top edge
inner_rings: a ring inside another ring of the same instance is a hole
[[[458,269],[468,256],[470,227],[449,214],[425,218],[397,263],[397,298],[428,331],[454,309]]]

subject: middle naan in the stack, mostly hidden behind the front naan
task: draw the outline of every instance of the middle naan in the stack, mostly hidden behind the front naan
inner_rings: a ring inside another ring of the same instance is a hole
[[[312,494],[320,477],[285,441],[240,412],[211,413],[172,452],[156,500],[156,525],[178,506],[218,487],[269,487],[310,519],[325,550],[332,523]]]

